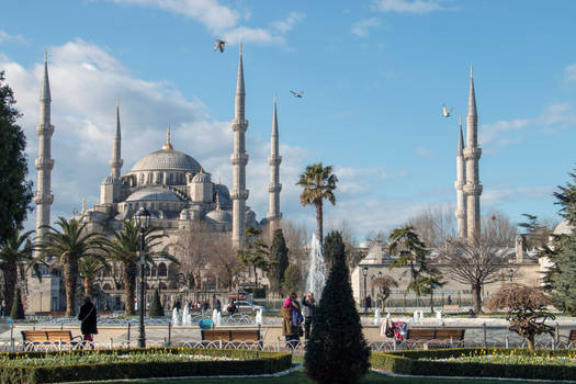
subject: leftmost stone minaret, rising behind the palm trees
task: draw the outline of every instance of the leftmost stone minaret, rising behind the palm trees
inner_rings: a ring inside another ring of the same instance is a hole
[[[50,83],[48,81],[48,54],[44,53],[44,81],[39,94],[39,123],[36,125],[38,134],[38,158],[36,159],[36,170],[38,173],[38,190],[34,195],[36,203],[36,236],[42,236],[47,228],[43,225],[50,224],[50,205],[54,195],[50,193],[50,172],[54,168],[54,160],[50,158],[50,143],[54,134],[54,126],[50,124]]]

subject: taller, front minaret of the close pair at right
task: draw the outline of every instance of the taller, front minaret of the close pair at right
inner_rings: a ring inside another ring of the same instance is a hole
[[[464,193],[466,193],[466,237],[468,241],[472,241],[479,239],[481,236],[479,196],[482,194],[482,184],[479,183],[478,177],[478,160],[482,156],[482,149],[478,148],[478,114],[476,113],[476,95],[474,93],[472,66],[470,67],[470,94],[466,124],[466,148],[464,149],[466,184],[464,185]]]

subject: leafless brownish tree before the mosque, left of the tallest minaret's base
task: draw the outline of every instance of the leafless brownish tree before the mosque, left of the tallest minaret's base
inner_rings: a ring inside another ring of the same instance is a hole
[[[176,258],[188,287],[202,287],[202,270],[210,261],[208,247],[214,230],[205,223],[194,223],[190,228],[180,229],[173,241]]]

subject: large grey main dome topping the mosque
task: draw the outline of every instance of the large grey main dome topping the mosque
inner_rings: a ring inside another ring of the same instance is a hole
[[[200,163],[187,154],[165,147],[136,161],[131,172],[180,170],[196,173],[200,168]]]

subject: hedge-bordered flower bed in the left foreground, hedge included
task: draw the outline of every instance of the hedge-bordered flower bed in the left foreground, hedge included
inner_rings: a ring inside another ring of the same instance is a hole
[[[0,354],[0,383],[256,375],[289,369],[286,353],[199,348],[149,348]]]

